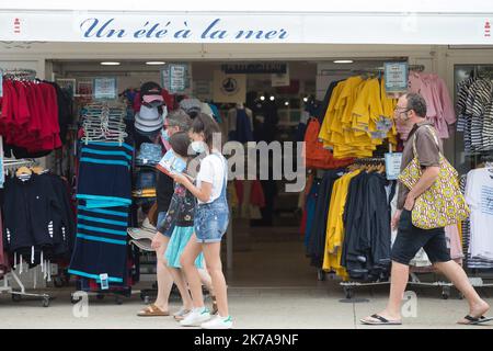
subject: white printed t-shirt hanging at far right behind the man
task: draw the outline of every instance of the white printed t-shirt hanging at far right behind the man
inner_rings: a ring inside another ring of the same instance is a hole
[[[472,257],[492,260],[493,171],[480,168],[468,173],[466,201],[471,208],[469,251]]]

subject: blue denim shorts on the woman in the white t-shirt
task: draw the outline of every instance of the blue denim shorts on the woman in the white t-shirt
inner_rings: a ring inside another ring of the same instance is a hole
[[[223,204],[200,204],[195,208],[194,228],[197,241],[220,242],[228,229],[229,210]]]

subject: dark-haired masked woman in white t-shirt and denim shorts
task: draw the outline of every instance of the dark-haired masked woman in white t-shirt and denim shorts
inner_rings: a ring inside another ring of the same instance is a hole
[[[184,327],[205,329],[230,329],[226,280],[220,259],[221,238],[228,228],[229,207],[226,186],[228,182],[227,160],[215,147],[213,140],[220,138],[220,128],[206,114],[199,114],[192,123],[190,154],[206,154],[200,161],[196,184],[183,174],[174,176],[174,181],[183,184],[196,199],[194,236],[182,256],[181,263],[192,292],[194,309],[181,321]],[[204,252],[207,270],[213,279],[219,314],[210,319],[209,310],[204,306],[200,279],[194,262]]]

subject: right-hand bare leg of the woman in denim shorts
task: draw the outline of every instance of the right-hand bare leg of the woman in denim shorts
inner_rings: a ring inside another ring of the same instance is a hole
[[[217,305],[220,317],[228,317],[228,293],[226,287],[226,279],[222,273],[222,263],[220,257],[221,244],[204,244],[204,257],[207,262],[207,270],[213,280],[214,291],[216,293]]]

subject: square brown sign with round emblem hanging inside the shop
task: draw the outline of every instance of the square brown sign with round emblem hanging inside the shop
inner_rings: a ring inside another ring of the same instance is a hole
[[[213,99],[218,103],[244,103],[246,101],[246,76],[226,75],[216,70]]]

